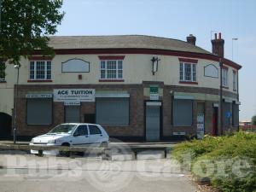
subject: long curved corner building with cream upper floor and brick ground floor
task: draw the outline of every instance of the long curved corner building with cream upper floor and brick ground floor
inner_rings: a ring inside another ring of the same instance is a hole
[[[224,58],[220,33],[212,39],[212,53],[195,39],[51,37],[53,58],[35,50],[20,61],[18,137],[43,134],[63,122],[101,124],[111,137],[126,140],[218,135],[220,58],[224,131],[237,130],[241,66]],[[7,65],[0,83],[5,121],[15,117],[16,79],[17,69]],[[1,124],[2,132],[10,132],[9,123]]]

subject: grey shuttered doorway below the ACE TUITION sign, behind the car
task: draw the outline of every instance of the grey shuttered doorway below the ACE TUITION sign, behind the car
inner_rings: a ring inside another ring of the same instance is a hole
[[[65,106],[65,122],[79,123],[80,122],[80,106]]]

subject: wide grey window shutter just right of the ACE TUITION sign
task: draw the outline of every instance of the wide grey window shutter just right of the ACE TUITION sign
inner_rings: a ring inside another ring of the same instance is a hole
[[[96,98],[96,123],[129,125],[129,98]]]

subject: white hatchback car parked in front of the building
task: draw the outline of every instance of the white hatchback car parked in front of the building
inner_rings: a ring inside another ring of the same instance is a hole
[[[74,146],[107,148],[108,133],[101,125],[69,123],[55,126],[48,133],[32,138],[31,146]],[[31,150],[32,154],[61,154],[57,150]],[[68,155],[67,153],[62,153]]]

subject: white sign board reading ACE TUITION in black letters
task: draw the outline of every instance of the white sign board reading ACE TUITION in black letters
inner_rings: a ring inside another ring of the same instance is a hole
[[[95,102],[94,89],[57,89],[54,102]]]

